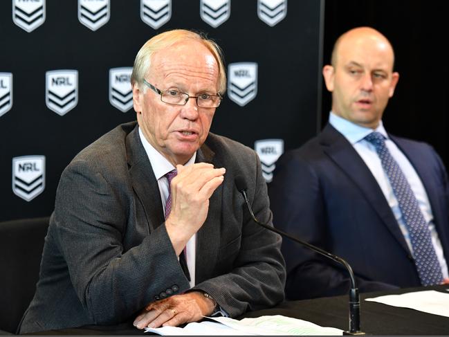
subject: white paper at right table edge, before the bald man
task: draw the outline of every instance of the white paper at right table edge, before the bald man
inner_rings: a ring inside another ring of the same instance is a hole
[[[379,302],[393,307],[415,309],[434,315],[449,317],[449,293],[425,290],[401,295],[385,295],[367,298],[366,301]]]

